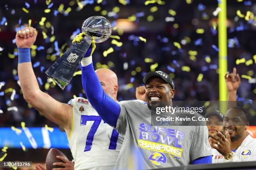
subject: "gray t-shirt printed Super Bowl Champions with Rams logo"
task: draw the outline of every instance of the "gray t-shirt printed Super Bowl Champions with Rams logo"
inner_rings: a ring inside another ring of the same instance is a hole
[[[119,105],[116,130],[125,139],[115,169],[188,165],[192,160],[212,155],[206,126],[151,126],[151,110],[146,102],[128,100]]]

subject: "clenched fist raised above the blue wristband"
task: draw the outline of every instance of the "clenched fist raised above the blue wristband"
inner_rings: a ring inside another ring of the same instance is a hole
[[[36,28],[26,27],[17,31],[16,45],[18,48],[30,48],[36,41]]]

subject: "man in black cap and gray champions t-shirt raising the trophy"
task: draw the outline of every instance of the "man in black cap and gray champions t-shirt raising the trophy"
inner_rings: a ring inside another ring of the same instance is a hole
[[[102,89],[92,58],[82,66],[82,84],[88,100],[105,122],[125,135],[115,169],[131,168],[128,158],[134,149],[139,153],[136,155],[142,157],[136,161],[142,169],[212,163],[206,126],[151,125],[152,102],[171,102],[174,97],[174,83],[169,75],[161,71],[148,72],[143,82],[146,83],[146,102],[117,103]]]

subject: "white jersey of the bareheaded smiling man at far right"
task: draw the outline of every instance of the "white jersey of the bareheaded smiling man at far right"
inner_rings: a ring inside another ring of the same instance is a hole
[[[256,161],[256,139],[248,135],[235,151],[234,157],[225,160],[218,150],[212,148],[212,163],[247,162]]]

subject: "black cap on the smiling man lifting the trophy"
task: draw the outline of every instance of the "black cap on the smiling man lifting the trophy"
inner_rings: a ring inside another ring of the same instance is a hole
[[[151,78],[151,77],[154,77],[154,76],[157,76],[157,77],[160,77],[162,80],[168,82],[172,88],[174,89],[174,82],[172,80],[172,78],[169,76],[169,74],[165,73],[165,72],[162,72],[162,71],[151,71],[151,72],[148,72],[144,77],[143,77],[143,82],[145,84],[147,84],[148,80]]]

